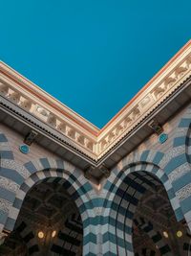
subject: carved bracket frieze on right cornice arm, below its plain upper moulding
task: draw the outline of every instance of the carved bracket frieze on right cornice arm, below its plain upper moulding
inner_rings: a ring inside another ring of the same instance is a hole
[[[191,50],[190,50],[191,51]],[[191,55],[188,55],[173,70],[158,82],[150,84],[146,92],[140,94],[135,104],[129,105],[118,118],[117,124],[113,122],[107,128],[104,136],[98,137],[99,157],[109,151],[121,137],[125,136],[130,130],[135,128],[141,120],[152,112],[159,104],[175,91],[180,84],[191,76]]]

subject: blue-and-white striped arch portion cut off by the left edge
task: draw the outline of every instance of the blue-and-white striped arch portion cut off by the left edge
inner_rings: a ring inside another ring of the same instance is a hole
[[[17,189],[16,184],[12,183],[11,179],[8,177],[8,171],[10,170],[13,162],[14,156],[11,151],[8,138],[0,131],[0,233],[3,230],[11,208],[11,197],[9,195],[10,190],[7,188],[11,188],[12,195]]]

